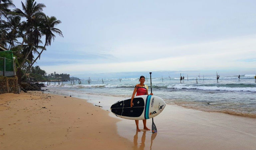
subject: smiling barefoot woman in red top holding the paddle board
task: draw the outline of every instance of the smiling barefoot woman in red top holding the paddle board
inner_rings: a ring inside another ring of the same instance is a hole
[[[133,98],[134,98],[134,95],[135,93],[137,92],[136,96],[139,96],[139,95],[148,95],[148,86],[144,84],[145,82],[145,77],[144,76],[140,76],[140,84],[137,84],[134,88],[134,91],[133,91],[133,94],[132,94],[132,98],[131,98],[131,107],[133,105],[132,101],[133,101]],[[153,93],[151,93],[150,95],[153,95]],[[150,130],[148,129],[148,127],[146,126],[146,122],[147,120],[144,119],[143,120],[143,125],[144,125],[144,128],[145,130]],[[135,124],[136,124],[136,127],[137,127],[137,131],[140,132],[140,129],[139,129],[139,120],[135,120]]]

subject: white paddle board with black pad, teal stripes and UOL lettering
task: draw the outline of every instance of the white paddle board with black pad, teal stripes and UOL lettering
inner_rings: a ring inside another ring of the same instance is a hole
[[[165,101],[154,95],[134,96],[131,107],[131,97],[114,103],[110,110],[117,117],[130,120],[144,120],[159,115],[165,108]]]

